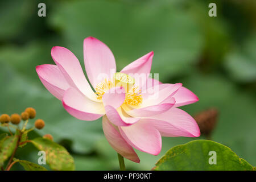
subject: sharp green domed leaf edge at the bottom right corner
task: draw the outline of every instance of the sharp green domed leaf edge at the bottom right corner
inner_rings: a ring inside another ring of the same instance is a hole
[[[195,140],[171,148],[156,163],[154,169],[241,171],[253,170],[254,167],[220,143],[210,140]]]

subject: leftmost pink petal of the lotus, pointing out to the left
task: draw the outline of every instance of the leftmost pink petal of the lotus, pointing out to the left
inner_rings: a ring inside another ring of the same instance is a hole
[[[44,64],[36,67],[39,79],[46,89],[57,99],[62,100],[65,90],[69,88],[68,82],[56,65]]]

